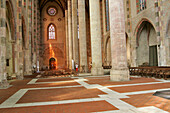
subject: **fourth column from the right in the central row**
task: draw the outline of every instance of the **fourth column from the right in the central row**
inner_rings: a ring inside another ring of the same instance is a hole
[[[72,0],[73,59],[75,63],[79,63],[77,27],[77,0]]]

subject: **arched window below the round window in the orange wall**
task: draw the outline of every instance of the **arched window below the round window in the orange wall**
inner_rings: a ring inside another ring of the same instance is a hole
[[[56,39],[56,27],[54,24],[48,26],[48,39]]]

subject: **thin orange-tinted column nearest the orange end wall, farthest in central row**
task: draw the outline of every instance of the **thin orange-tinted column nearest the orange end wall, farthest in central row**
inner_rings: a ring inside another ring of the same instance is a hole
[[[65,10],[65,29],[66,29],[66,68],[69,68],[69,37],[68,37],[68,11]]]

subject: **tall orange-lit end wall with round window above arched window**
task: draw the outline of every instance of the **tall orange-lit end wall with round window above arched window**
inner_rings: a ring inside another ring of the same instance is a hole
[[[45,4],[40,1],[40,15],[42,18],[40,22],[41,38],[39,39],[41,45],[41,49],[39,49],[40,69],[47,67],[50,69],[50,58],[55,58],[56,69],[66,67],[65,17],[60,7],[64,2],[58,3],[57,0],[54,0],[54,2],[47,0]],[[42,4],[44,5],[42,6]]]

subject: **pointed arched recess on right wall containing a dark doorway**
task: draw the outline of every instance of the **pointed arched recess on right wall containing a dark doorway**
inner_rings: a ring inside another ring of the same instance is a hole
[[[153,25],[143,21],[137,30],[137,65],[158,66],[157,35]]]

